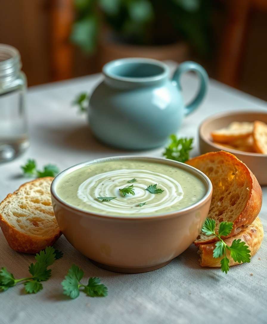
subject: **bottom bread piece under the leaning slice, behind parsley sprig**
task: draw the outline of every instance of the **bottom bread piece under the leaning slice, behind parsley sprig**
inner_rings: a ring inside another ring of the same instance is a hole
[[[224,241],[227,245],[231,246],[233,240],[241,239],[241,241],[246,242],[246,245],[250,249],[250,256],[255,255],[260,249],[261,242],[263,239],[263,227],[259,217],[256,217],[254,222],[250,224],[246,229],[239,232],[237,235],[226,238]],[[220,267],[221,258],[213,257],[213,250],[215,249],[215,244],[201,244],[199,245],[200,254],[200,265],[202,267]],[[227,258],[229,259],[229,266],[239,264],[235,262],[230,256],[230,251],[226,252]]]

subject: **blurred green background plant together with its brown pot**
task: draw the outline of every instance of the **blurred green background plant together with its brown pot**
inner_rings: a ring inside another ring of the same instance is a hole
[[[209,51],[209,0],[75,0],[71,40],[100,48],[101,66],[120,57],[184,61]]]

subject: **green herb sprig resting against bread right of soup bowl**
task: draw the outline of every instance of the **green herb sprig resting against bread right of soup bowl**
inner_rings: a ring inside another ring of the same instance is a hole
[[[221,270],[222,272],[227,273],[229,271],[229,259],[227,258],[226,251],[230,251],[230,256],[235,262],[250,262],[250,250],[245,242],[238,240],[233,240],[232,245],[228,246],[221,236],[226,236],[231,233],[233,229],[233,223],[231,222],[221,222],[219,225],[218,234],[215,233],[215,220],[212,218],[207,218],[202,232],[206,235],[215,235],[219,241],[215,243],[215,249],[213,250],[213,257],[220,258],[221,260]]]

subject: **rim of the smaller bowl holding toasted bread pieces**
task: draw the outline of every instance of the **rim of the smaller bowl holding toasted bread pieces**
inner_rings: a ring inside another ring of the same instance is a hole
[[[243,114],[264,114],[267,116],[267,112],[265,112],[265,110],[242,110],[242,111],[238,111],[238,110],[234,110],[234,111],[228,111],[228,112],[219,112],[216,113],[206,119],[204,119],[202,121],[202,123],[199,125],[198,128],[198,133],[199,133],[199,137],[205,141],[207,144],[214,146],[215,148],[219,149],[219,150],[223,150],[226,152],[230,152],[234,155],[239,154],[239,155],[244,155],[244,156],[255,156],[255,157],[259,157],[259,158],[266,158],[267,154],[263,154],[263,153],[253,153],[253,152],[244,152],[244,151],[239,151],[239,150],[235,150],[229,147],[224,147],[223,145],[217,145],[215,144],[213,141],[211,141],[209,138],[207,138],[204,134],[203,134],[203,129],[204,126],[209,123],[214,121],[215,119],[219,119],[219,118],[223,118],[223,117],[228,117],[231,115],[243,115]]]

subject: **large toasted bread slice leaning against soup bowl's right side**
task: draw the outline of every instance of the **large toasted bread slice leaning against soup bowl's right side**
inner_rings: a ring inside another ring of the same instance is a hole
[[[212,182],[213,194],[208,217],[215,219],[215,232],[219,223],[233,222],[233,230],[227,237],[236,235],[248,227],[261,210],[261,187],[250,169],[236,156],[225,151],[210,152],[186,162],[201,170]],[[215,236],[203,232],[195,245],[213,243]]]

